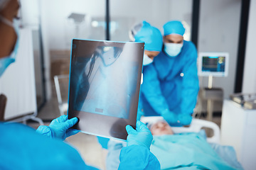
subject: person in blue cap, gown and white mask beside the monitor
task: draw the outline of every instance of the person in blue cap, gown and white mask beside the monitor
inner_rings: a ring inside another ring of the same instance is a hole
[[[171,126],[191,123],[199,90],[196,47],[184,33],[180,21],[164,24],[163,50],[143,69],[144,115],[161,115]]]

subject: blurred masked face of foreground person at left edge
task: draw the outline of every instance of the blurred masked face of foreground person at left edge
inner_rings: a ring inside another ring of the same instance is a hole
[[[17,17],[18,8],[18,0],[0,0],[0,77],[15,61],[18,35],[14,18]]]

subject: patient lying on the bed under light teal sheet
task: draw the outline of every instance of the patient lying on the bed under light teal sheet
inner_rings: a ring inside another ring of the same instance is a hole
[[[159,159],[161,169],[242,169],[233,147],[213,145],[213,149],[204,131],[174,134],[164,120],[147,126],[154,136],[150,150]],[[107,170],[118,169],[122,147],[122,143],[109,142]]]

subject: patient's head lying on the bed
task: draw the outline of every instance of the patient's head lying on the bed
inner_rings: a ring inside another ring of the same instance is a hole
[[[148,125],[152,135],[174,135],[171,126],[165,120],[157,120]]]

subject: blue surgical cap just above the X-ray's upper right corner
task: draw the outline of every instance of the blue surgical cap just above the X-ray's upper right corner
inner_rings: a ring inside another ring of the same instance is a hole
[[[163,46],[162,35],[159,29],[142,22],[142,28],[134,36],[136,42],[145,42],[144,50],[160,52]]]

